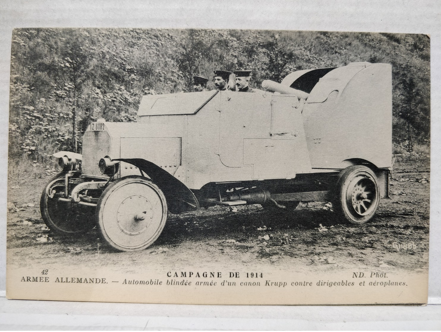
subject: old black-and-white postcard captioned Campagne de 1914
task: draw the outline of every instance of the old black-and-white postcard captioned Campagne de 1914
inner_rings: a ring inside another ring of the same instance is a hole
[[[12,34],[7,298],[425,304],[430,37]]]

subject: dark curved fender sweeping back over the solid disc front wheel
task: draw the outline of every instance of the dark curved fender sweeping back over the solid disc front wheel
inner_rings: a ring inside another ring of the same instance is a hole
[[[167,200],[168,210],[171,213],[196,211],[199,209],[199,202],[193,192],[173,175],[151,161],[140,158],[113,160],[132,164],[146,173],[163,191]]]

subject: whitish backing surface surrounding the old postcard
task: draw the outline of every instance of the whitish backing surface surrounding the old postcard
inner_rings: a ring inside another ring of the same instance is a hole
[[[439,329],[441,4],[426,1],[17,1],[1,5],[0,328],[26,329]],[[426,33],[431,36],[431,219],[426,307],[250,307],[8,301],[7,109],[15,27],[170,27]],[[121,315],[122,317],[115,317]]]

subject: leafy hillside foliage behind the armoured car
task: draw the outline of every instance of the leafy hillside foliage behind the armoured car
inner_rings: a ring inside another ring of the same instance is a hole
[[[16,29],[10,156],[81,149],[99,117],[135,121],[144,94],[191,91],[195,75],[251,69],[251,86],[301,69],[392,64],[393,139],[430,138],[430,40],[419,34],[264,30]],[[213,89],[209,81],[208,88]]]

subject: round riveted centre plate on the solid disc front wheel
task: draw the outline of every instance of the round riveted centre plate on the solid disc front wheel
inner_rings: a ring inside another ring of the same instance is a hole
[[[116,213],[121,231],[138,235],[145,231],[153,219],[153,206],[142,195],[132,195],[124,199]]]

